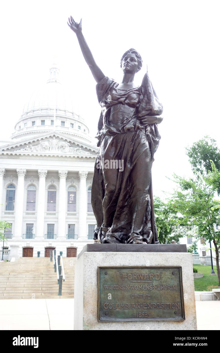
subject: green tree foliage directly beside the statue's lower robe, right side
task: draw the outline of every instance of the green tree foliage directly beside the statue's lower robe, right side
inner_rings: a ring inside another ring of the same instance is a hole
[[[171,244],[172,240],[179,242],[186,235],[186,219],[178,214],[178,199],[154,198],[155,221],[160,244]]]

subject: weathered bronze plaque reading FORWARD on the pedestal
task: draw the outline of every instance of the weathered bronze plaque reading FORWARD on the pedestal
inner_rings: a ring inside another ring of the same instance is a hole
[[[185,320],[181,267],[98,267],[99,321]]]

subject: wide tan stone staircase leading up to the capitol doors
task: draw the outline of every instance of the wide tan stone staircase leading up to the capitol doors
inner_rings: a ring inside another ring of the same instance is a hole
[[[0,299],[74,298],[75,262],[76,257],[63,258],[62,295],[58,295],[57,273],[49,257],[21,257],[15,262],[0,262]]]

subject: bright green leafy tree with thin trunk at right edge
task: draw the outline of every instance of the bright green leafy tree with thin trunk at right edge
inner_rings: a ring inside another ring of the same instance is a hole
[[[214,225],[220,225],[219,200],[215,199],[220,185],[220,173],[211,163],[212,171],[207,175],[197,174],[196,178],[185,179],[174,175],[178,188],[174,197],[178,199],[178,210],[185,218],[185,222],[198,230],[194,237],[203,237],[206,241],[213,241],[215,247],[216,268],[220,285],[219,249],[220,231],[215,231]]]

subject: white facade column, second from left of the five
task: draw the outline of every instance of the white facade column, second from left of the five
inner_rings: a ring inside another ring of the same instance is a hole
[[[26,169],[17,169],[18,186],[15,195],[14,237],[22,239],[23,204],[24,204],[24,177]]]

